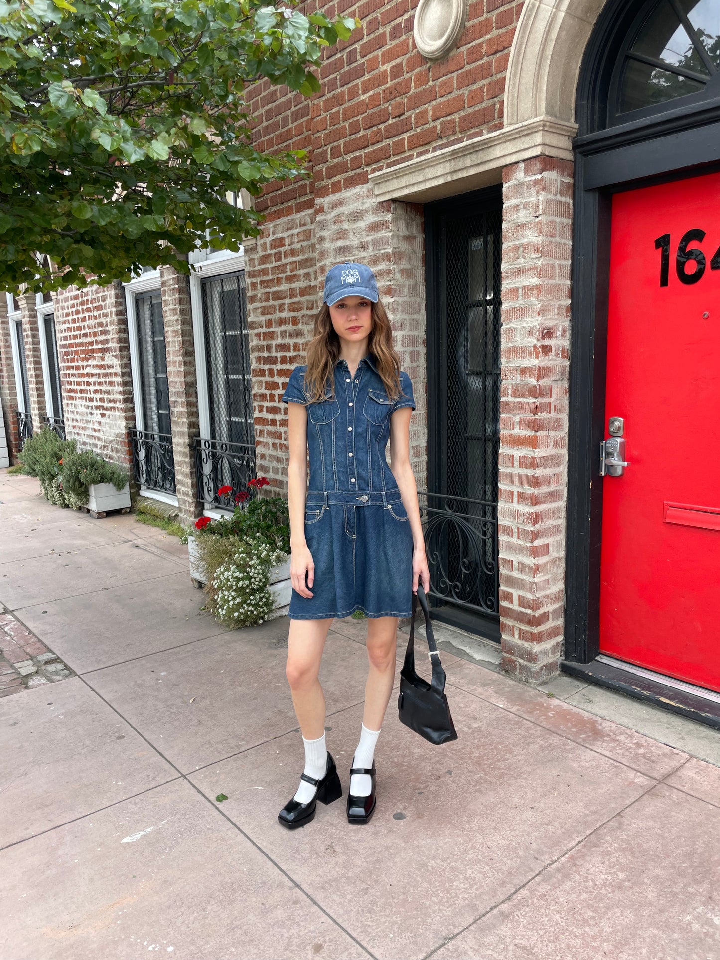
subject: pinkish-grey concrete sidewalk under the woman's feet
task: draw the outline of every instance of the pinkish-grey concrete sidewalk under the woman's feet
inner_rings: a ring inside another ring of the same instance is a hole
[[[289,833],[287,619],[228,633],[132,516],[0,501],[0,600],[72,671],[0,699],[3,960],[720,958],[718,767],[445,653],[458,741],[392,701],[372,823]],[[323,663],[344,789],[364,631]]]

